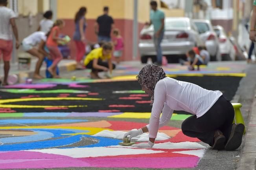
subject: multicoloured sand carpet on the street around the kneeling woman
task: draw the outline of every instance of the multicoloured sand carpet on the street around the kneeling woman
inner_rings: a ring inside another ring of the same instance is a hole
[[[232,99],[241,77],[176,79],[221,90]],[[118,138],[97,135],[147,124],[150,98],[136,81],[47,79],[0,91],[0,169],[192,168],[206,150],[198,139],[186,137],[175,126],[160,128],[168,138],[153,148],[124,147]],[[189,116],[175,111],[171,120],[180,122]]]

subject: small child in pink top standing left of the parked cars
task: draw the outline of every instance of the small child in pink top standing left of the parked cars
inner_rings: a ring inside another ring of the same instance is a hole
[[[113,31],[114,38],[114,57],[116,58],[117,64],[120,63],[121,57],[123,55],[123,37],[120,35],[119,29],[114,29]]]

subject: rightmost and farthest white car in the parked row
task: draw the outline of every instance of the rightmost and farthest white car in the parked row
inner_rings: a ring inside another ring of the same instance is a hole
[[[214,31],[219,38],[219,49],[221,52],[222,60],[235,60],[235,49],[233,44],[230,42],[227,34],[222,26],[214,26]]]

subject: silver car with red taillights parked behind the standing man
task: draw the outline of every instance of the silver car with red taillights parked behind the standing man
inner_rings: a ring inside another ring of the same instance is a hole
[[[153,62],[156,60],[157,53],[153,36],[152,25],[144,27],[140,32],[139,51],[142,63],[147,63],[149,57],[152,57]],[[188,50],[199,45],[203,45],[203,42],[190,18],[167,17],[165,19],[165,32],[161,47],[168,62],[177,62],[180,57],[186,58]]]

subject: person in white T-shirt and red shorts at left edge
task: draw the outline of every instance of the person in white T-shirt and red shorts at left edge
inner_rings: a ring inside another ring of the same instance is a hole
[[[18,41],[18,30],[15,24],[15,13],[13,10],[6,7],[7,0],[0,0],[0,58],[4,60],[4,81],[2,85],[7,84],[7,77],[10,69],[10,60],[13,49],[13,37],[10,27],[13,29],[13,34],[16,38],[16,48],[20,46]]]

